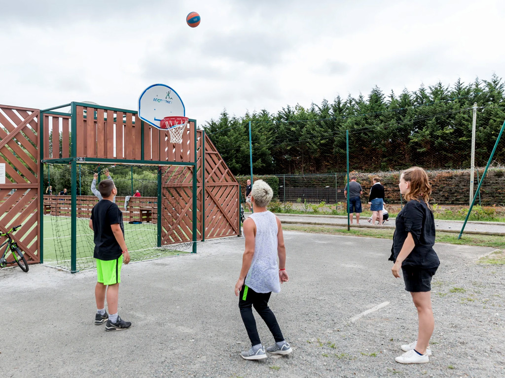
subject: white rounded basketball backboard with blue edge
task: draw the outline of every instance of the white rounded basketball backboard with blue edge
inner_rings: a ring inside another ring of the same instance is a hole
[[[138,116],[143,121],[161,129],[160,122],[169,116],[185,116],[181,98],[168,85],[153,84],[138,98]]]

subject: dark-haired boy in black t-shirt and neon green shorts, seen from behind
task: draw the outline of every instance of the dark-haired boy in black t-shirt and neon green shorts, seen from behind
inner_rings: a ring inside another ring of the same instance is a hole
[[[102,180],[98,184],[102,195],[91,210],[89,227],[94,232],[94,254],[96,259],[97,283],[95,286],[96,315],[95,324],[104,324],[106,331],[126,330],[131,323],[118,316],[119,283],[121,282],[121,266],[130,262],[130,254],[124,239],[123,213],[118,205],[112,202],[118,194],[112,180]],[[108,315],[105,310],[107,292]]]

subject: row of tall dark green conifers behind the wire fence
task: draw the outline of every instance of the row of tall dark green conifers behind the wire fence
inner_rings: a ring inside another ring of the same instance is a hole
[[[477,103],[477,166],[486,164],[505,120],[505,83],[475,79],[465,84],[441,82],[418,90],[384,94],[377,86],[365,97],[337,96],[333,102],[305,108],[287,105],[230,115],[223,110],[204,129],[234,174],[248,174],[251,122],[255,174],[346,171],[346,131],[350,170],[469,168],[473,105]],[[494,161],[505,158],[505,136]]]

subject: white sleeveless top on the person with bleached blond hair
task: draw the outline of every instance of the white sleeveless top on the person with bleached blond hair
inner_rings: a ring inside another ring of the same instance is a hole
[[[249,215],[256,223],[254,256],[245,277],[245,284],[257,293],[278,293],[279,264],[277,263],[277,219],[270,211]]]

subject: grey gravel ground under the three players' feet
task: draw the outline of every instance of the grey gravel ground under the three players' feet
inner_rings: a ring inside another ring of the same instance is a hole
[[[415,339],[417,314],[390,273],[391,241],[293,231],[285,239],[290,281],[270,305],[289,356],[239,356],[249,342],[233,294],[243,238],[233,237],[200,243],[196,255],[124,267],[120,315],[133,323],[124,332],[93,325],[94,271],[0,271],[2,376],[505,376],[505,267],[476,264],[492,248],[436,245],[433,356],[401,365],[394,357]]]

